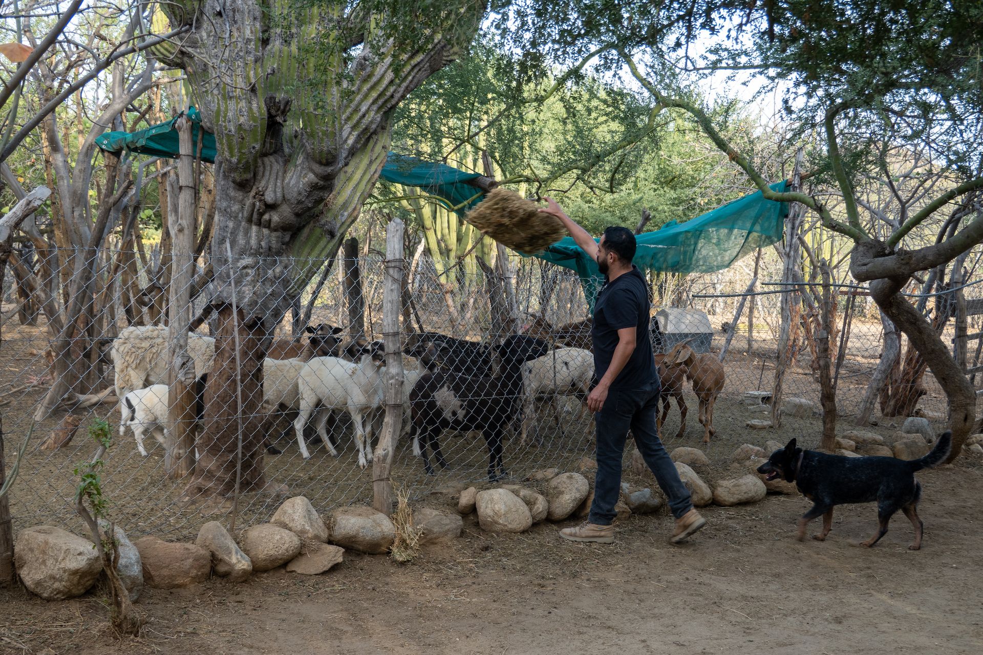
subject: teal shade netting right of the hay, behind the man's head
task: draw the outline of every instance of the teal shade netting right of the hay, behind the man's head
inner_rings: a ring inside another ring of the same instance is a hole
[[[779,192],[786,188],[787,181],[771,186]],[[787,202],[767,200],[756,191],[684,223],[669,221],[660,230],[638,235],[632,261],[639,268],[669,273],[720,271],[749,252],[780,241],[787,215]],[[605,278],[597,262],[573,239],[567,237],[536,256],[577,271],[593,310]]]

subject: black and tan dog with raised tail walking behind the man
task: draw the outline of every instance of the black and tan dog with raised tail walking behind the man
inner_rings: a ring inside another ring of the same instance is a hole
[[[772,453],[768,462],[758,467],[758,472],[769,480],[781,477],[786,482],[794,482],[798,490],[813,502],[812,508],[799,519],[799,541],[805,538],[806,524],[820,515],[823,517],[823,531],[814,534],[813,539],[826,539],[833,529],[835,506],[877,501],[877,534],[860,542],[860,545],[869,548],[876,544],[887,534],[888,521],[900,510],[915,527],[915,540],[908,548],[918,550],[921,548],[923,526],[916,512],[921,484],[914,473],[942,464],[952,448],[952,437],[952,432],[943,433],[931,453],[911,461],[826,455],[797,448],[792,439],[784,448]]]

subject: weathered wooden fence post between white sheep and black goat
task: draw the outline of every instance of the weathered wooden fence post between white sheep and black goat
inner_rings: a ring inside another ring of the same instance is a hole
[[[403,222],[389,222],[385,231],[385,283],[382,291],[382,339],[385,343],[385,420],[373,457],[373,507],[391,515],[392,481],[389,470],[403,425],[403,357],[399,316],[403,286]]]

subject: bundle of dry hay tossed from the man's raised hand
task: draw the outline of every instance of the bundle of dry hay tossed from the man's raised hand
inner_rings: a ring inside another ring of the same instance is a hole
[[[540,213],[540,205],[515,191],[498,188],[469,211],[465,219],[502,246],[533,254],[567,236],[559,219]]]

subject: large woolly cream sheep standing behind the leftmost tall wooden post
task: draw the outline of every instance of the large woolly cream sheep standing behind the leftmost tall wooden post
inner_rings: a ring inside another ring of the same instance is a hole
[[[119,399],[135,389],[167,382],[170,355],[167,352],[167,327],[163,325],[135,325],[120,330],[110,354]],[[188,355],[195,362],[195,377],[201,377],[202,373],[211,370],[215,340],[189,333]]]

